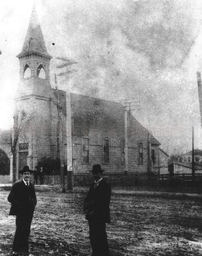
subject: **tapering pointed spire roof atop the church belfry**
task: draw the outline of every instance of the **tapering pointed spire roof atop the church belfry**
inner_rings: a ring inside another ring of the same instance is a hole
[[[17,57],[20,57],[30,52],[41,53],[51,58],[51,56],[47,53],[35,5],[33,6],[32,14],[30,17],[30,24],[27,29],[27,34],[25,37],[22,51],[19,55],[17,55]]]

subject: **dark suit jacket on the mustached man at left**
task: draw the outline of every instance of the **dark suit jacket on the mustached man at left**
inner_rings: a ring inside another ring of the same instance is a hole
[[[33,214],[37,203],[34,184],[30,182],[27,188],[23,180],[14,183],[8,201],[11,203],[9,215]]]

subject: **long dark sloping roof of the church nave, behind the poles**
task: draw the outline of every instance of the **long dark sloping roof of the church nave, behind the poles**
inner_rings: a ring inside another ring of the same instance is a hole
[[[62,113],[66,116],[66,92],[52,89]],[[119,102],[103,100],[86,95],[70,93],[71,115],[73,118],[84,120],[96,120],[102,118],[102,122],[111,120],[112,122],[122,123],[121,130],[124,129],[124,107]],[[122,130],[122,132],[124,132]],[[137,136],[137,134],[146,134],[148,130],[131,116],[128,122],[128,137]],[[151,144],[160,145],[159,141],[151,134]],[[165,153],[166,154],[166,153]]]

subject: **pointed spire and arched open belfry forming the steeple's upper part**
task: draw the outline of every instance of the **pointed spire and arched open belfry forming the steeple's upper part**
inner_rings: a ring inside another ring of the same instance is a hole
[[[52,57],[48,54],[36,8],[33,7],[30,23],[19,58],[20,83],[16,98],[27,95],[51,96],[49,65]]]

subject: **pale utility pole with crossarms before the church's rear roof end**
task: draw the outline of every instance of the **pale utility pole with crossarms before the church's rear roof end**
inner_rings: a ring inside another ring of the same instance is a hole
[[[124,102],[124,173],[127,174],[128,173],[128,119],[132,116],[131,110],[133,111],[139,110],[140,106],[139,106],[139,101],[131,102],[127,99],[124,101],[125,101]],[[133,109],[131,109],[131,107],[133,107]]]

